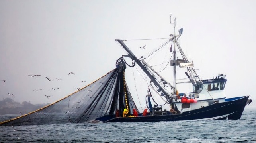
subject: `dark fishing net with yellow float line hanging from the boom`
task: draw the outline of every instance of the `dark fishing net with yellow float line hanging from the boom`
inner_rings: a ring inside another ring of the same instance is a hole
[[[97,122],[97,118],[115,118],[116,110],[138,109],[126,86],[125,68],[117,68],[92,84],[28,114],[0,122],[0,125],[39,125]]]

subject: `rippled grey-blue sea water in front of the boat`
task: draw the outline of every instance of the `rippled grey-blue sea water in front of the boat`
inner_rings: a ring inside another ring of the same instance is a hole
[[[0,143],[123,142],[256,143],[256,109],[240,120],[0,126]]]

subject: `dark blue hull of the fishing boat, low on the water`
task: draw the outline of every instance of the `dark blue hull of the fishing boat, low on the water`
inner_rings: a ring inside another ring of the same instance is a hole
[[[160,116],[118,117],[113,115],[103,116],[96,120],[102,122],[160,122],[179,120],[238,120],[242,116],[249,96],[239,97],[235,100],[227,100],[223,103],[215,103],[200,109],[183,112],[182,114],[170,114]]]

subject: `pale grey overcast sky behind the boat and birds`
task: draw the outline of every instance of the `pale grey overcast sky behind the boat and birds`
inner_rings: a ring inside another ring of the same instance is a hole
[[[1,0],[0,80],[7,81],[0,82],[0,96],[13,93],[14,101],[33,104],[57,101],[115,68],[125,52],[114,39],[168,38],[172,13],[200,76],[227,74],[227,97],[250,95],[253,103],[246,108],[256,107],[255,5],[254,0]],[[43,90],[32,92],[37,89]]]

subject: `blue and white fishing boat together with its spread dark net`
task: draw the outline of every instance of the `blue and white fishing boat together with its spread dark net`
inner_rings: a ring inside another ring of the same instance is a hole
[[[172,18],[172,15],[170,17]],[[226,98],[225,74],[204,80],[200,78],[194,69],[193,61],[186,57],[178,41],[183,28],[176,34],[176,18],[170,23],[173,24],[173,34],[152,52],[156,53],[162,47],[170,45],[171,58],[168,65],[172,67],[170,69],[173,71],[173,83],[168,82],[160,72],[153,69],[153,66],[146,62],[146,57],[137,58],[124,43],[126,40],[116,39],[128,55],[122,55],[117,59],[115,69],[52,104],[0,122],[0,125],[240,119],[244,107],[252,100],[249,96]],[[145,46],[140,48],[144,49]],[[132,62],[128,63],[127,59],[131,59]],[[136,105],[135,95],[130,92],[125,77],[126,69],[135,65],[141,68],[149,79],[146,96],[148,111],[146,109],[145,114],[139,112],[138,107],[141,105]],[[183,82],[178,82],[178,68],[186,71],[182,72],[186,76]],[[177,84],[190,84],[192,90],[188,93],[179,93]],[[153,93],[157,95],[154,98]],[[162,104],[157,103],[156,98],[162,100]],[[163,108],[164,105],[167,105],[168,109]],[[138,115],[133,116],[135,111]]]

